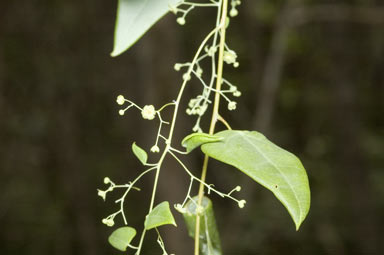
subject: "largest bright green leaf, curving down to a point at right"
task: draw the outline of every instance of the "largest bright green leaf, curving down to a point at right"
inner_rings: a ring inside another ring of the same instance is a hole
[[[272,191],[298,230],[310,207],[308,177],[300,160],[256,131],[226,130],[216,135],[224,139],[203,144],[202,151]]]

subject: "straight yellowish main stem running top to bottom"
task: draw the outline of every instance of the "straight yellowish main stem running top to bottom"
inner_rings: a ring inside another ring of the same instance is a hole
[[[220,105],[220,90],[221,83],[223,79],[223,67],[224,67],[224,49],[225,49],[225,32],[226,32],[226,19],[228,15],[228,0],[222,0],[222,10],[221,10],[221,21],[220,21],[220,46],[219,46],[219,60],[217,66],[217,79],[216,79],[216,91],[215,91],[215,101],[213,105],[213,112],[211,118],[211,124],[209,127],[209,134],[215,132],[216,122],[219,116],[219,105]],[[209,157],[205,155],[203,162],[203,169],[201,173],[201,183],[199,187],[198,194],[198,207],[201,206],[204,195],[204,182],[207,176],[208,169],[208,159]],[[200,242],[200,215],[196,214],[196,226],[195,226],[195,255],[199,255],[199,242]]]

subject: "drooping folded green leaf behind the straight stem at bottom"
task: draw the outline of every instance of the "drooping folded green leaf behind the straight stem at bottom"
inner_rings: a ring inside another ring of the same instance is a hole
[[[193,198],[193,201],[188,201],[185,205],[187,212],[183,214],[188,235],[192,238],[195,238],[197,201],[197,196]],[[216,225],[212,201],[204,196],[201,206],[203,210],[200,213],[200,251],[203,255],[221,255],[220,235]]]

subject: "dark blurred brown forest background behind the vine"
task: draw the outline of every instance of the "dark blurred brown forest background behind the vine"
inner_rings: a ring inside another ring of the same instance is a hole
[[[228,31],[240,67],[225,68],[243,96],[236,112],[223,114],[233,128],[262,131],[302,159],[312,207],[296,232],[269,191],[212,161],[208,182],[224,191],[240,184],[238,196],[247,200],[240,210],[212,197],[224,254],[384,254],[383,0],[242,2]],[[174,99],[181,77],[173,65],[191,59],[214,13],[195,10],[183,27],[167,15],[111,58],[116,5],[0,2],[2,255],[119,254],[101,223],[116,205],[96,189],[104,176],[126,183],[143,170],[130,147],[136,141],[149,150],[157,124],[137,111],[120,117],[116,96],[156,106]],[[194,119],[181,114],[178,123],[182,139]],[[198,174],[201,162],[196,151],[188,164]],[[138,229],[150,177],[127,203]],[[157,201],[180,202],[188,183],[168,160]],[[162,229],[168,250],[192,254],[177,221],[179,228]],[[144,254],[160,254],[154,238]]]

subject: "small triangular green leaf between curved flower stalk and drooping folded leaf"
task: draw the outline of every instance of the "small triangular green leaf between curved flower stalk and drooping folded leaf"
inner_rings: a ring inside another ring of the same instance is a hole
[[[175,219],[173,218],[171,209],[169,208],[169,203],[164,201],[153,208],[153,210],[147,215],[144,227],[146,230],[149,230],[168,224],[176,226]]]

